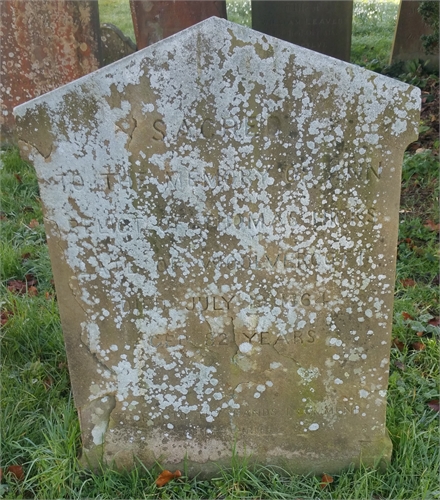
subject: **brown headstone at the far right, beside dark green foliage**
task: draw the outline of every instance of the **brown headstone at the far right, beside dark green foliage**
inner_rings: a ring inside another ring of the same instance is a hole
[[[424,23],[422,16],[419,14],[419,6],[420,2],[414,0],[400,0],[390,63],[414,59],[429,60],[430,68],[438,71],[438,52],[437,54],[427,55],[420,40],[422,35],[430,35],[432,30],[430,26]]]

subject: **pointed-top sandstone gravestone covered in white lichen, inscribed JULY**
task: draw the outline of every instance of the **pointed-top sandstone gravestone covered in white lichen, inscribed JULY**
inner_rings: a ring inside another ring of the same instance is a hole
[[[415,87],[211,18],[15,109],[90,464],[390,458],[419,105]]]

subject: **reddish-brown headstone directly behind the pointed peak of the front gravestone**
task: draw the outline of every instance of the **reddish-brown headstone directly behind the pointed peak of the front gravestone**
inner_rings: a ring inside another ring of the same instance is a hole
[[[211,16],[226,19],[225,0],[130,0],[130,8],[138,49]]]

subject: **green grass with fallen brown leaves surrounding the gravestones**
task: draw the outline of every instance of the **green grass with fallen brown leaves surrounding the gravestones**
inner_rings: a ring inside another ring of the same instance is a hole
[[[100,8],[110,12],[117,3],[100,0]],[[122,28],[120,16],[106,22]],[[354,29],[356,37],[361,28]],[[364,31],[366,37],[374,35],[373,28]],[[377,54],[366,57],[381,57]],[[438,413],[428,405],[438,400],[440,381],[438,141],[431,149],[406,154],[403,165],[387,407],[392,462],[384,473],[344,471],[324,489],[319,478],[252,468],[237,457],[210,481],[182,477],[161,489],[155,486],[159,466],[147,470],[139,463],[130,472],[101,474],[79,466],[80,430],[35,174],[13,148],[2,153],[2,164],[0,498],[440,499]],[[9,466],[19,466],[23,476],[6,472]]]

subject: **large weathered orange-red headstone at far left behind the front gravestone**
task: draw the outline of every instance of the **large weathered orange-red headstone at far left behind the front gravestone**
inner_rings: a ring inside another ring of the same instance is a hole
[[[96,1],[1,0],[2,139],[13,136],[14,106],[99,67]]]

